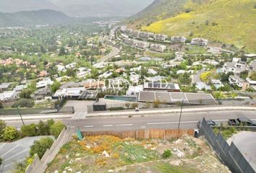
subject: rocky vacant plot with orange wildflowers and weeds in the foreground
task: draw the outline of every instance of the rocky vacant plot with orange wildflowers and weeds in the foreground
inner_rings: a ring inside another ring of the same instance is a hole
[[[169,150],[164,159],[163,152]],[[46,172],[229,172],[201,139],[87,137],[67,143]]]

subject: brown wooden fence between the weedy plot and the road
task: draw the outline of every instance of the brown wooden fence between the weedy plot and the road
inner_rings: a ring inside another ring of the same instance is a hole
[[[194,129],[189,130],[163,130],[163,129],[147,129],[147,130],[129,130],[129,131],[84,131],[83,136],[116,136],[119,138],[135,138],[135,139],[171,139],[180,138],[182,136],[194,136]]]

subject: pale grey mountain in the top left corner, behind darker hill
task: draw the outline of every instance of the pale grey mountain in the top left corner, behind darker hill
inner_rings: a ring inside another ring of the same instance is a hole
[[[58,10],[55,4],[47,0],[0,0],[0,12],[13,13],[38,9]]]

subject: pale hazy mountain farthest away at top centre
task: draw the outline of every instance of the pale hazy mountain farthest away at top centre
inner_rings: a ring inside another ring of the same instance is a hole
[[[74,17],[130,16],[142,11],[153,0],[48,0],[61,12]]]

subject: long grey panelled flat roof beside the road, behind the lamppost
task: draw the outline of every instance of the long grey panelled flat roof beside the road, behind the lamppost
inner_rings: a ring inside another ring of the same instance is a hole
[[[182,102],[192,105],[217,105],[216,99],[212,94],[187,93],[187,92],[140,92],[139,102],[155,102],[156,100],[163,103]]]

